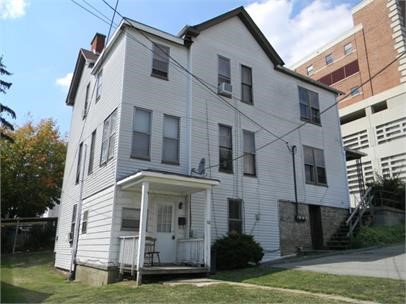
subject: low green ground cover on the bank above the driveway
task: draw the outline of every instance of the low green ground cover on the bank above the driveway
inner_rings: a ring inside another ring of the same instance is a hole
[[[400,243],[405,240],[405,226],[361,227],[352,240],[353,248]]]

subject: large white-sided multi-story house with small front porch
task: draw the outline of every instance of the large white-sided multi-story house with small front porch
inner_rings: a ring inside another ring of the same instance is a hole
[[[337,94],[285,68],[242,7],[178,35],[96,34],[66,99],[55,266],[97,284],[207,272],[230,231],[263,261],[322,248],[349,207],[337,108],[320,115]]]

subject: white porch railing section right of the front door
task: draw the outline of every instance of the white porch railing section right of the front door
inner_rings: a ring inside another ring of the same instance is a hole
[[[177,240],[176,260],[182,264],[204,264],[204,239]]]

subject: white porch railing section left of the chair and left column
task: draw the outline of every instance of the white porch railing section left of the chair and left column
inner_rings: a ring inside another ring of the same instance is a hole
[[[120,273],[130,270],[131,275],[137,269],[138,236],[120,236],[120,255],[118,263]]]

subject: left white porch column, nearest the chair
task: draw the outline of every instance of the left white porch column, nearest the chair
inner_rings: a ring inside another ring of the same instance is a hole
[[[140,229],[137,248],[137,284],[141,284],[142,268],[144,267],[145,234],[147,231],[147,211],[148,211],[148,191],[149,182],[143,182],[141,188],[141,214]]]

